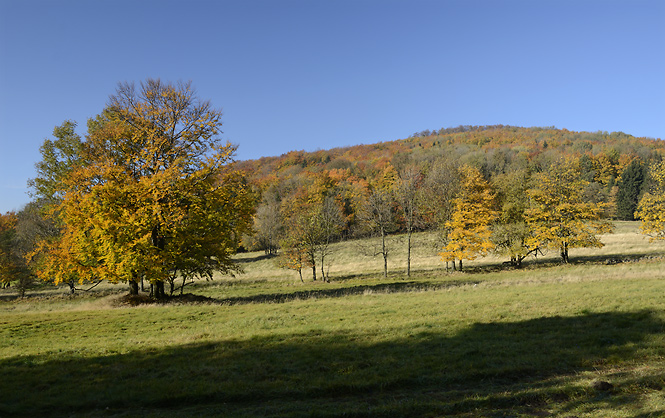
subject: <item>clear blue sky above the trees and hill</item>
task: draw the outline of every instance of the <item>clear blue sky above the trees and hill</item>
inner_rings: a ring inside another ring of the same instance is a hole
[[[662,0],[0,0],[0,212],[121,81],[192,80],[239,159],[457,125],[665,138]]]

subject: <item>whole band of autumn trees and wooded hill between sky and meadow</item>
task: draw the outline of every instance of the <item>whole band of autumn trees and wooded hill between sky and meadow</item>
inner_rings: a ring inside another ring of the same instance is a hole
[[[329,280],[332,244],[437,231],[442,263],[490,252],[520,266],[554,249],[601,246],[611,220],[665,238],[665,147],[623,133],[462,126],[398,141],[233,160],[221,111],[191,83],[121,83],[87,122],[55,127],[40,149],[33,200],[0,215],[0,283],[72,292],[101,281],[155,298],[215,272],[241,249]],[[168,290],[167,286],[168,285]]]

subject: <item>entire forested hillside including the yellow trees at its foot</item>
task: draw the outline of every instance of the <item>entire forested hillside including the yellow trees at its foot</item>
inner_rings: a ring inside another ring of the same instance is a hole
[[[315,278],[334,240],[426,229],[453,266],[489,251],[519,265],[544,247],[565,262],[569,248],[601,245],[608,220],[635,218],[664,155],[662,140],[622,132],[498,125],[241,161],[260,195],[245,244],[283,248],[286,267]]]

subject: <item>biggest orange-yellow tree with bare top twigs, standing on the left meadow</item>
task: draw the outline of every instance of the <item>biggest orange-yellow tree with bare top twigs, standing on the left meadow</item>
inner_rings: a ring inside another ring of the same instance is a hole
[[[86,166],[64,182],[54,213],[59,239],[36,253],[56,283],[147,279],[154,296],[180,277],[238,267],[231,256],[251,228],[252,193],[228,169],[235,148],[219,140],[221,112],[189,83],[121,84],[88,124]]]

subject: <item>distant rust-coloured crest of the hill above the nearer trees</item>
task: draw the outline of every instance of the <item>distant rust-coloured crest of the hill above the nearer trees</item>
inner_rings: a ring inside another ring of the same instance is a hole
[[[609,160],[621,168],[633,158],[645,162],[662,159],[665,142],[623,132],[590,133],[503,125],[459,126],[425,130],[406,139],[376,144],[314,152],[291,151],[279,157],[242,161],[237,167],[265,188],[280,179],[302,173],[343,173],[348,178],[372,180],[387,166],[400,166],[407,161],[455,159],[482,167],[491,176],[525,163],[542,170],[556,159],[582,155],[595,161]]]

